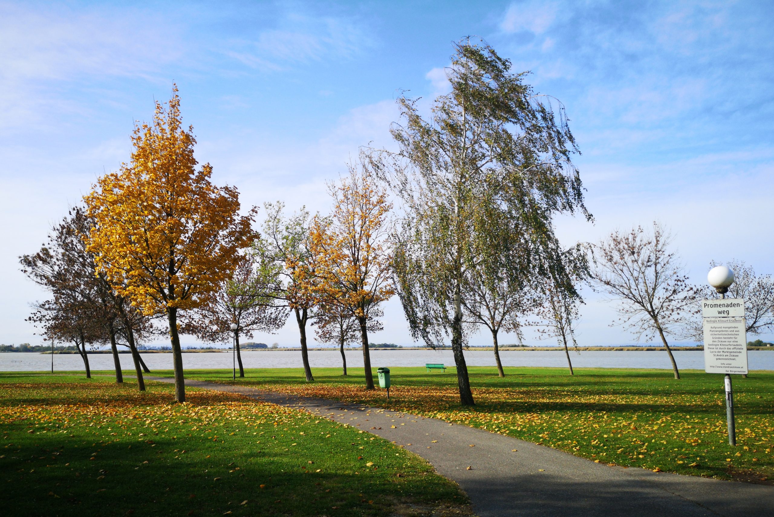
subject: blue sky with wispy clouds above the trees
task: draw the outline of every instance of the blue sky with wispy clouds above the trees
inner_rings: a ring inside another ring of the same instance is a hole
[[[39,342],[24,318],[45,295],[17,257],[128,159],[132,121],[149,119],[173,81],[217,183],[239,187],[245,205],[279,199],[325,212],[324,182],[358,146],[392,145],[400,91],[445,91],[451,42],[467,35],[567,107],[595,222],[560,219],[564,242],[658,219],[696,282],[713,259],[774,272],[772,11],[770,2],[0,2],[0,342]],[[609,327],[614,304],[586,295],[581,344],[634,341]],[[297,330],[256,338],[294,344]],[[372,340],[409,344],[396,301]]]

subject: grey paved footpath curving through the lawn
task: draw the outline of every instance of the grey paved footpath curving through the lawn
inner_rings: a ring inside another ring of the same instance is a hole
[[[774,486],[608,467],[485,430],[371,406],[214,382],[186,385],[303,409],[386,438],[457,481],[481,517],[774,517]]]

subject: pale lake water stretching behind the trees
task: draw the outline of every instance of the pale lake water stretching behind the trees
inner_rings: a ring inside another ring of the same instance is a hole
[[[347,365],[363,366],[363,354],[359,350],[345,352]],[[674,351],[678,368],[704,369],[703,351]],[[120,354],[122,368],[134,369],[132,356]],[[265,350],[243,351],[245,368],[300,368],[300,351]],[[171,370],[172,354],[142,354],[151,370]],[[500,358],[504,366],[552,366],[566,367],[567,358],[563,351],[502,351]],[[573,366],[577,368],[672,368],[666,351],[572,351]],[[492,351],[465,351],[470,366],[494,366]],[[185,368],[231,368],[231,352],[183,353]],[[341,366],[341,354],[337,350],[313,350],[309,352],[312,368],[337,368]],[[83,370],[84,364],[78,354],[54,354],[54,370]],[[371,351],[371,364],[379,366],[423,366],[425,363],[454,365],[450,350],[375,350]],[[111,354],[90,354],[92,370],[113,368]],[[774,370],[774,351],[748,351],[750,370]],[[51,355],[34,352],[0,352],[0,371],[46,371],[51,369]]]

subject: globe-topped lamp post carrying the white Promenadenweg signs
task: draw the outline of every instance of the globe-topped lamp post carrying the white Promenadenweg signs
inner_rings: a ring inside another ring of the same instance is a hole
[[[734,282],[734,272],[724,265],[712,268],[707,281],[721,295],[720,300],[701,300],[704,323],[704,371],[725,374],[728,443],[736,445],[734,392],[731,374],[747,373],[747,332],[745,300],[725,297]]]

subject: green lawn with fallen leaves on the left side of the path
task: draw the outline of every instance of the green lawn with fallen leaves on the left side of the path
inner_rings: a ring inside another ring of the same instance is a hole
[[[420,457],[241,395],[0,374],[9,515],[470,515]]]

